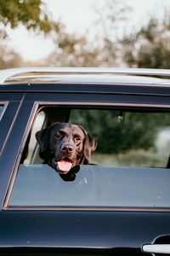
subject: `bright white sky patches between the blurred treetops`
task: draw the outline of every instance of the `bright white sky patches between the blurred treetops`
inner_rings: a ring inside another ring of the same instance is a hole
[[[61,20],[67,32],[84,34],[89,31],[93,38],[96,32],[95,22],[97,15],[95,9],[106,0],[43,0],[48,12],[54,20]],[[145,24],[150,15],[162,16],[163,9],[170,9],[170,0],[122,0],[133,9],[130,20],[126,26],[120,27],[123,32],[132,32]],[[8,28],[7,44],[22,55],[25,61],[37,61],[45,58],[54,49],[52,40],[34,32],[27,32],[20,26],[14,30]]]

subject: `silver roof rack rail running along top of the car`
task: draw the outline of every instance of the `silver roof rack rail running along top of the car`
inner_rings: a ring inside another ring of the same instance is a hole
[[[131,74],[144,76],[170,76],[170,69],[119,68],[119,67],[21,67],[0,70],[0,84],[24,73],[41,74]]]

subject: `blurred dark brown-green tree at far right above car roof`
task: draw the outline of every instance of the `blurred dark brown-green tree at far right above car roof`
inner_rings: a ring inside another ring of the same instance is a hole
[[[151,18],[139,32],[122,39],[123,61],[128,67],[170,68],[170,18]]]

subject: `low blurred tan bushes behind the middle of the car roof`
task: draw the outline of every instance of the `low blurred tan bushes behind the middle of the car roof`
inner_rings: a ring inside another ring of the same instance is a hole
[[[99,67],[102,65],[102,49],[89,43],[86,36],[65,32],[64,26],[54,35],[55,49],[42,61],[43,66]]]

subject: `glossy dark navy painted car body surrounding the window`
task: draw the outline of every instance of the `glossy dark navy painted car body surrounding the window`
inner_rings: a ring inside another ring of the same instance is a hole
[[[43,251],[45,253],[54,250],[55,253],[69,254],[77,248],[76,252],[80,254],[142,254],[141,247],[144,244],[151,243],[160,236],[169,239],[168,209],[158,212],[147,209],[131,211],[126,208],[121,211],[8,211],[3,202],[12,172],[19,164],[26,131],[31,126],[38,106],[53,103],[59,106],[87,105],[105,108],[124,105],[127,108],[144,106],[143,108],[167,109],[170,105],[170,86],[114,83],[2,84],[0,92],[0,103],[8,102],[0,121],[0,253],[14,253],[11,247],[18,248],[18,252],[25,247],[30,250],[46,247]],[[47,248],[51,248],[51,251]]]

